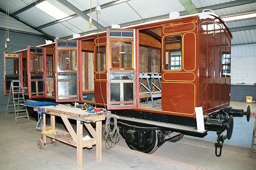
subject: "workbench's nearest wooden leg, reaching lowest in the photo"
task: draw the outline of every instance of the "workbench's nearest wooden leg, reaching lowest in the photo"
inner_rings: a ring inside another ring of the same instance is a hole
[[[77,120],[76,121],[76,163],[77,167],[82,167],[82,122]]]

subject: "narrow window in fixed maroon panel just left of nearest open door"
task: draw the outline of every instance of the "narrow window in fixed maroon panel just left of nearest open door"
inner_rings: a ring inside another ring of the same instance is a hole
[[[106,45],[95,46],[95,66],[96,72],[106,71]]]

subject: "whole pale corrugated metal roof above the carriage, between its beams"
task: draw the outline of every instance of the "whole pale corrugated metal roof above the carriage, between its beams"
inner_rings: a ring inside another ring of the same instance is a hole
[[[9,0],[10,5],[10,14],[30,5],[37,0]],[[90,8],[90,0],[67,0],[72,3],[74,6],[79,8],[79,10],[84,11]],[[100,5],[105,3],[114,2],[115,0],[99,0]],[[192,0],[197,8],[218,5],[221,3],[232,2],[236,0]],[[0,8],[5,10],[5,0],[0,1]],[[73,15],[75,12],[69,10],[68,7],[62,5],[59,1],[56,0],[47,0],[47,2],[59,8],[61,11],[65,12],[67,15]],[[97,0],[92,0],[92,8],[97,6]],[[239,12],[252,11],[256,9],[256,2],[246,5],[223,8],[220,10],[215,10],[214,12],[219,15],[230,15]],[[98,15],[98,23],[104,27],[110,27],[112,24],[124,24],[129,22],[134,22],[136,20],[142,20],[147,18],[152,18],[155,16],[166,15],[171,11],[185,11],[185,8],[180,4],[179,0],[131,0],[118,5],[110,6],[104,8],[100,11]],[[87,14],[89,15],[89,14]],[[32,25],[33,27],[39,27],[50,22],[54,22],[55,19],[52,16],[44,13],[36,7],[32,7],[27,11],[24,11],[18,15],[20,20],[24,21],[27,24]],[[92,13],[92,18],[96,19],[96,12]],[[11,20],[10,20],[11,21]],[[249,19],[236,22],[228,22],[230,28],[242,27],[247,25],[253,25],[256,23],[256,19]],[[55,25],[48,26],[43,28],[43,31],[46,31],[49,35],[55,37],[66,37],[71,36],[72,33],[82,33],[96,30],[97,28],[93,25],[89,25],[88,21],[82,19],[80,16],[69,19],[62,23],[57,23]],[[255,33],[255,30],[250,31],[241,31],[233,32],[234,39],[233,44],[243,44],[244,42],[253,43],[255,40],[253,36],[248,35],[249,33]],[[243,37],[248,35],[249,37]],[[243,39],[242,39],[243,37]],[[247,40],[246,40],[247,39]]]

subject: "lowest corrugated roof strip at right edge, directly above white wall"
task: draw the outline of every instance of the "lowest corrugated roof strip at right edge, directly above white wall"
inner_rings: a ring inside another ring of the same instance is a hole
[[[232,45],[256,43],[256,29],[232,32]]]

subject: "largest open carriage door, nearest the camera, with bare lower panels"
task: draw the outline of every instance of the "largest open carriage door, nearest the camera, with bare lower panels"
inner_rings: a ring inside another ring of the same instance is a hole
[[[108,109],[136,108],[135,31],[107,29]]]

